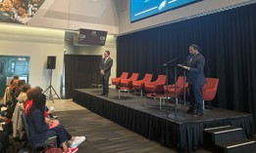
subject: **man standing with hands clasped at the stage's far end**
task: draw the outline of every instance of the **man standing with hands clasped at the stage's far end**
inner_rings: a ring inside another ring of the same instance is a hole
[[[109,51],[104,52],[104,58],[100,62],[100,74],[102,79],[103,93],[101,96],[108,96],[109,94],[109,77],[111,74],[111,67],[113,65],[113,59],[110,56]]]

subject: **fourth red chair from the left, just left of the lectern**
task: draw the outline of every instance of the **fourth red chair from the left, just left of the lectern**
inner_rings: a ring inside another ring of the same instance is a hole
[[[155,96],[156,93],[163,92],[165,83],[166,75],[159,75],[156,81],[145,83],[145,91],[150,93],[147,96]]]

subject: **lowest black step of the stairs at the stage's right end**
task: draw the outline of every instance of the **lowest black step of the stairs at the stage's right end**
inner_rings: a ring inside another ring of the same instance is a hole
[[[218,144],[214,148],[214,153],[253,153],[256,150],[256,142],[254,140],[240,139],[223,144]]]

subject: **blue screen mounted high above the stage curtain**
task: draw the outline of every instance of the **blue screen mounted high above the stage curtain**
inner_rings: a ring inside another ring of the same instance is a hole
[[[146,19],[202,0],[130,0],[130,21]]]

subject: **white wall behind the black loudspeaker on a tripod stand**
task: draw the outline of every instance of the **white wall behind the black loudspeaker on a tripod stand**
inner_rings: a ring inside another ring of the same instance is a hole
[[[47,57],[56,56],[52,86],[60,96],[64,57],[63,30],[0,24],[0,55],[30,57],[28,83],[43,90],[50,85],[50,70],[46,69]]]

